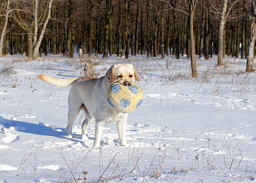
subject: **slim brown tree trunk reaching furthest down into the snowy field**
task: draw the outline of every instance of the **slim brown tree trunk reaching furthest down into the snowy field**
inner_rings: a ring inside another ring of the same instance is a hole
[[[191,70],[192,77],[197,77],[197,68],[196,68],[196,43],[194,39],[194,13],[196,11],[196,2],[195,0],[190,0],[189,5],[189,36],[190,36],[190,45],[191,45]]]

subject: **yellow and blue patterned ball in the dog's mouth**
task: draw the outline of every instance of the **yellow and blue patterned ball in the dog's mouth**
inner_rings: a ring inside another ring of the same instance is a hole
[[[137,84],[126,87],[115,82],[109,87],[107,99],[117,112],[129,113],[141,105],[143,92]]]

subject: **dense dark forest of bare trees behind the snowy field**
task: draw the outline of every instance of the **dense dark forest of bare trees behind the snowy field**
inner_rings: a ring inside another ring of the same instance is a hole
[[[186,55],[197,77],[195,54],[219,54],[253,71],[255,12],[255,0],[1,0],[0,56]]]

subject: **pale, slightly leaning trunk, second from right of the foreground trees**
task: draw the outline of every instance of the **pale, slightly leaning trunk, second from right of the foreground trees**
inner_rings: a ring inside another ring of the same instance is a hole
[[[221,9],[221,22],[219,23],[219,35],[218,35],[218,64],[217,66],[221,66],[223,64],[223,34],[224,34],[224,26],[225,26],[225,14],[227,11],[227,1],[224,0]]]

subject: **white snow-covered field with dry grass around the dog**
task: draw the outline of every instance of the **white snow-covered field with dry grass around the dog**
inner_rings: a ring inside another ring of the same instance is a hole
[[[190,60],[137,55],[93,57],[103,76],[114,63],[133,63],[144,91],[128,116],[128,145],[119,146],[115,123],[106,124],[100,149],[81,134],[65,137],[70,87],[37,79],[83,76],[78,59],[25,56],[0,59],[0,182],[255,182],[256,73],[246,60]],[[255,67],[255,65],[254,65]]]

